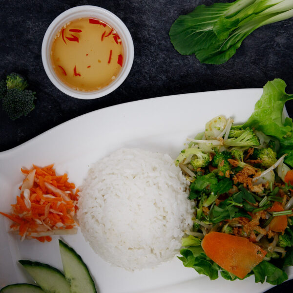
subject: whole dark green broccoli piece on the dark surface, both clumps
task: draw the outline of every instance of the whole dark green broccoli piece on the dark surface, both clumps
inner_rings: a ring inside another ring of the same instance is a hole
[[[27,86],[25,79],[17,73],[11,73],[6,81],[0,82],[2,108],[11,120],[26,116],[35,108],[35,92],[26,90]]]

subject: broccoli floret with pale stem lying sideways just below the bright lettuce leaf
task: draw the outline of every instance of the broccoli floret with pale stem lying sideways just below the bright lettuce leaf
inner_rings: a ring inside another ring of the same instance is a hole
[[[226,146],[259,146],[260,142],[254,131],[247,127],[245,130],[232,129],[229,138],[225,141]]]

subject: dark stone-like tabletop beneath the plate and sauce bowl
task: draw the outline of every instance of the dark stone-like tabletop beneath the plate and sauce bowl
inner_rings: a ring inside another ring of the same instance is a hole
[[[274,78],[284,79],[287,91],[293,92],[293,19],[257,29],[227,63],[207,65],[194,56],[177,53],[168,31],[179,15],[215,0],[0,2],[0,78],[12,71],[21,73],[38,97],[35,110],[16,121],[9,120],[0,106],[0,151],[84,113],[129,101],[209,90],[259,88]],[[42,38],[51,21],[64,10],[85,4],[104,7],[121,18],[135,48],[134,63],[126,81],[111,94],[95,100],[74,99],[60,92],[47,78],[41,59]],[[287,103],[287,109],[293,117],[293,103]],[[289,286],[283,288],[288,290]]]

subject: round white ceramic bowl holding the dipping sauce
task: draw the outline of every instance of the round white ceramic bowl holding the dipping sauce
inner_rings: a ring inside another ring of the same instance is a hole
[[[111,27],[113,27],[113,29],[117,31],[119,37],[122,40],[123,45],[124,63],[120,70],[120,73],[111,84],[103,87],[100,90],[95,91],[80,91],[73,89],[67,86],[66,84],[63,84],[63,82],[56,75],[52,67],[50,58],[51,46],[58,31],[67,22],[84,17],[96,18],[98,20],[105,21],[107,24],[109,24]],[[91,5],[70,8],[64,11],[62,14],[60,14],[48,27],[42,42],[42,63],[48,78],[63,93],[78,99],[96,99],[103,97],[112,92],[113,90],[115,90],[126,79],[133,63],[133,57],[133,42],[126,25],[112,12],[104,8]]]

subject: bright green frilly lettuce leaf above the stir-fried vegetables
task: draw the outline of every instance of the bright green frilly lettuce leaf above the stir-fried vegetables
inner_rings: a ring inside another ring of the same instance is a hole
[[[284,105],[287,101],[293,100],[293,94],[286,93],[286,86],[281,79],[268,82],[264,86],[261,98],[255,104],[251,117],[246,123],[236,127],[253,127],[278,139],[278,156],[287,153],[284,162],[293,167],[293,122],[289,117],[283,119]]]

